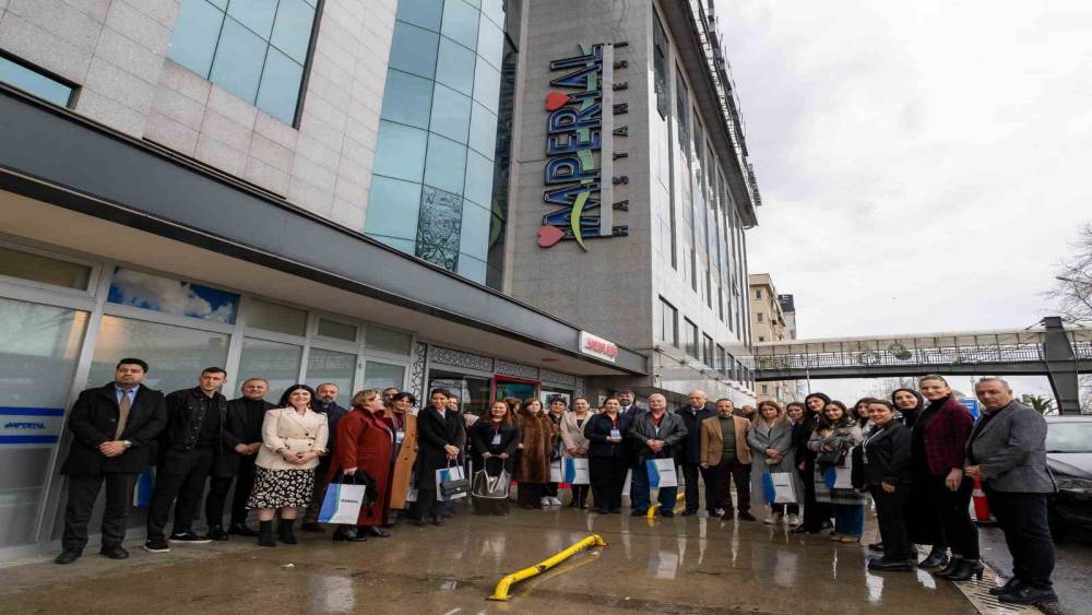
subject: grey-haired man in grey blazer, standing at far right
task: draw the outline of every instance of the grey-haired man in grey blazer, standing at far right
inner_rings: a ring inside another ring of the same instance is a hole
[[[1012,399],[1012,389],[1000,378],[978,380],[974,393],[984,410],[966,443],[964,475],[982,478],[989,510],[1012,554],[1012,578],[990,591],[1001,602],[1056,602],[1047,522],[1047,498],[1056,486],[1046,466],[1046,421]]]

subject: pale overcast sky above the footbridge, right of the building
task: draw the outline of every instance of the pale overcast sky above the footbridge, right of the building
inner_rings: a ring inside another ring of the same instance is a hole
[[[719,0],[804,338],[1024,328],[1092,220],[1092,2]]]

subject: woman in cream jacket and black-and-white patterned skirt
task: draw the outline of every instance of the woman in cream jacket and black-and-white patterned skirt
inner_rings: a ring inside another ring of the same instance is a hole
[[[296,544],[296,508],[311,501],[314,469],[319,457],[327,454],[330,437],[327,415],[311,409],[313,399],[310,387],[294,385],[262,422],[262,448],[254,460],[254,488],[247,502],[247,508],[258,509],[258,544],[262,546],[276,546],[273,517],[277,511],[281,542]]]

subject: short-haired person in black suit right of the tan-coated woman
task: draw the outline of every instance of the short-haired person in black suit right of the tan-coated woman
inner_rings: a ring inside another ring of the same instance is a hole
[[[425,527],[428,519],[434,525],[442,525],[443,520],[436,511],[436,471],[455,464],[459,459],[459,438],[462,417],[458,412],[448,410],[447,389],[432,389],[429,393],[429,407],[417,414],[417,502],[414,506],[414,518],[419,527]]]

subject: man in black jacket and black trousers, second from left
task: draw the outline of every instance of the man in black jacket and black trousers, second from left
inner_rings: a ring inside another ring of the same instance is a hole
[[[198,386],[167,395],[167,427],[159,437],[159,465],[155,473],[152,504],[147,508],[147,540],[144,549],[167,553],[164,529],[175,509],[170,542],[205,544],[207,536],[193,533],[193,518],[201,506],[205,478],[212,473],[216,450],[224,441],[227,399],[219,393],[227,372],[206,367]],[[175,500],[178,500],[177,505]]]

